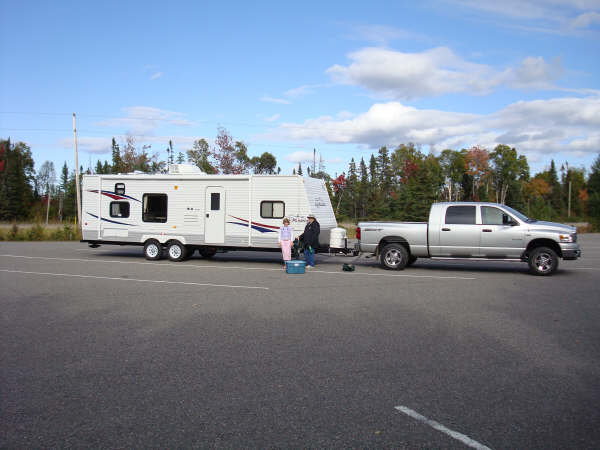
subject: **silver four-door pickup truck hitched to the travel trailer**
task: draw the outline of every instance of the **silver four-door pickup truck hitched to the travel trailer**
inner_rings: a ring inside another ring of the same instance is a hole
[[[386,269],[417,258],[523,261],[551,275],[558,260],[577,259],[577,230],[529,219],[497,203],[434,203],[429,222],[359,222],[357,250],[378,256]]]

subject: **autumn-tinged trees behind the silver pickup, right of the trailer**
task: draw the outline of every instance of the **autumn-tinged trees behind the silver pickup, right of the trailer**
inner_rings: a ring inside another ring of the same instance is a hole
[[[600,154],[586,180],[583,168],[550,167],[533,177],[525,155],[497,145],[425,154],[413,144],[381,147],[368,164],[350,161],[332,180],[338,218],[425,221],[438,201],[507,204],[530,217],[600,224]]]

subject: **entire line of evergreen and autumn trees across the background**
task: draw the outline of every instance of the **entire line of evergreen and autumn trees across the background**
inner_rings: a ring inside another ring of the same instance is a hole
[[[86,171],[80,167],[80,173],[166,173],[175,162],[194,164],[208,174],[281,173],[274,155],[249,156],[246,144],[225,128],[217,129],[214,145],[198,139],[185,153],[176,155],[172,142],[165,150],[163,161],[132,136],[122,144],[113,138],[111,161],[98,160]],[[305,169],[308,176],[326,180],[340,221],[424,221],[433,202],[473,200],[505,203],[538,219],[589,221],[600,227],[600,154],[587,178],[583,168],[557,168],[554,161],[531,176],[527,158],[506,145],[447,149],[436,156],[409,143],[391,151],[381,147],[368,162],[352,158],[339,176],[325,171],[322,157],[318,168]],[[303,175],[300,163],[293,173]],[[27,144],[0,140],[0,220],[39,221],[48,212],[53,220],[72,220],[75,197],[75,173],[66,162],[58,177],[51,161],[36,171]]]

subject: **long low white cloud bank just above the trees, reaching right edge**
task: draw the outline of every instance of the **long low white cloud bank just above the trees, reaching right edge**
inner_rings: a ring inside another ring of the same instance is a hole
[[[323,116],[301,124],[284,123],[278,139],[321,140],[378,148],[402,143],[434,151],[513,145],[528,155],[597,152],[600,149],[600,97],[521,101],[487,115],[422,110],[399,102],[378,103],[353,119]],[[290,159],[291,158],[291,159]],[[309,152],[289,161],[310,161]]]

